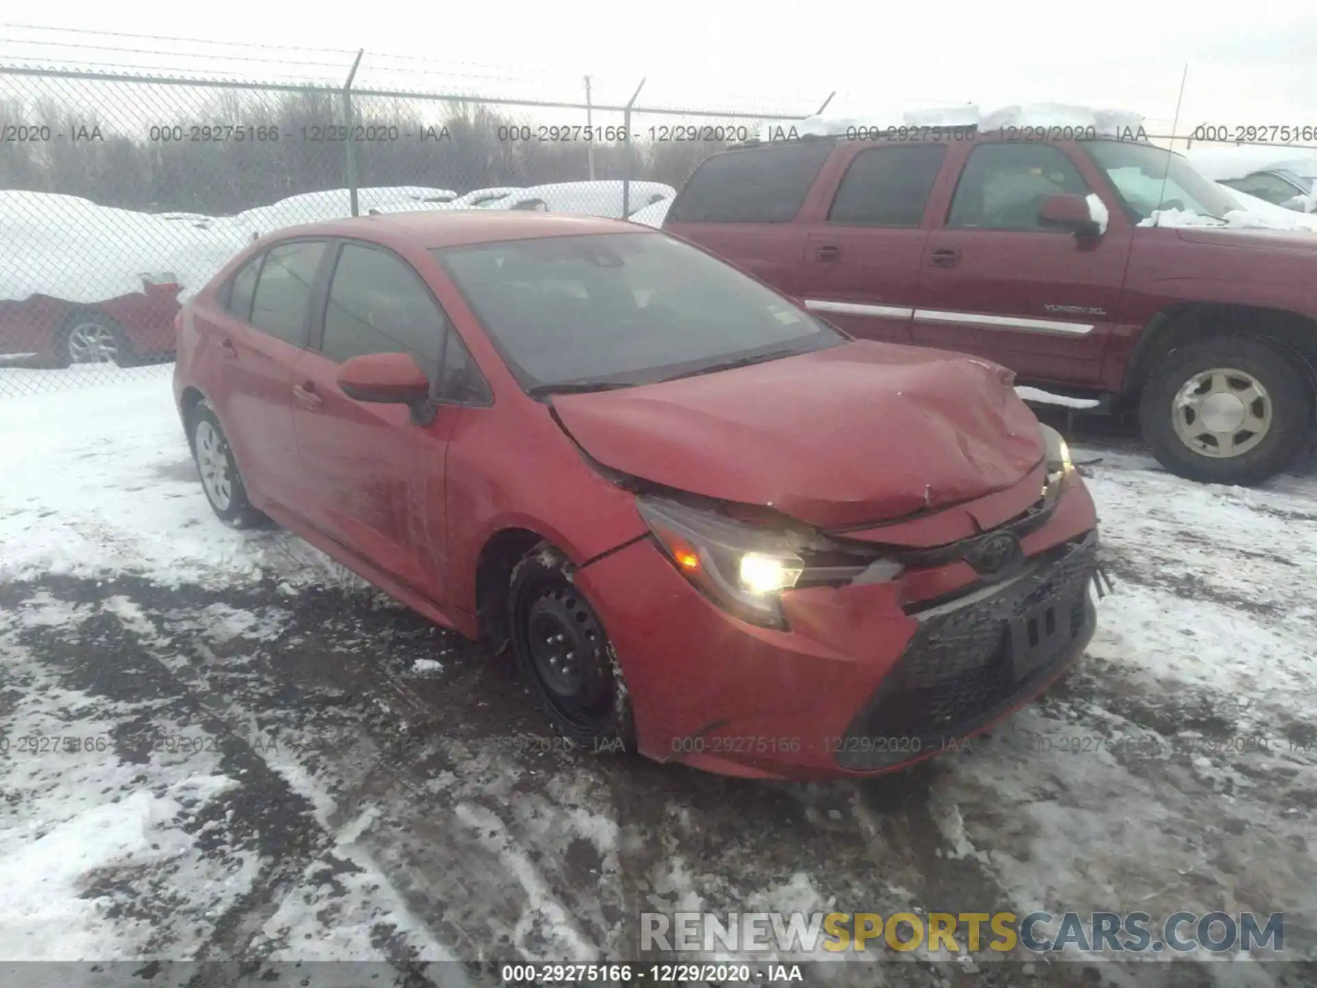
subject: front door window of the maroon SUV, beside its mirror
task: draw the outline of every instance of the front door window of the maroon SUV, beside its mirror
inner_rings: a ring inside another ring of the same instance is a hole
[[[1047,144],[984,144],[965,162],[948,227],[1055,232],[1038,221],[1050,195],[1088,195],[1075,163]]]

